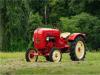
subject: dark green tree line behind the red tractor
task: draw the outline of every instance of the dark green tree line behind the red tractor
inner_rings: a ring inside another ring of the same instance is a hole
[[[87,35],[89,50],[100,48],[99,0],[0,0],[2,51],[24,51],[38,27]]]

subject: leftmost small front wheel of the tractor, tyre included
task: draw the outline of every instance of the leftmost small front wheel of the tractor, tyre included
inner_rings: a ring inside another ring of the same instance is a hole
[[[38,56],[36,54],[37,54],[36,49],[32,49],[32,48],[28,49],[26,51],[26,55],[25,55],[26,61],[27,62],[36,62],[38,59]]]

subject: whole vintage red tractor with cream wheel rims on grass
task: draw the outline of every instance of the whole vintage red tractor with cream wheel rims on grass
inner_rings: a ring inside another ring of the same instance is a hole
[[[85,58],[85,34],[60,33],[58,29],[38,28],[33,35],[34,48],[26,52],[26,61],[35,62],[38,56],[44,56],[47,61],[60,62],[62,53],[70,53],[73,61]]]

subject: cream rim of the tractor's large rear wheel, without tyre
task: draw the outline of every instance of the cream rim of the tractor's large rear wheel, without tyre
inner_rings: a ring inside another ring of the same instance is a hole
[[[84,43],[82,41],[78,41],[75,48],[76,56],[78,59],[82,59],[85,52]]]

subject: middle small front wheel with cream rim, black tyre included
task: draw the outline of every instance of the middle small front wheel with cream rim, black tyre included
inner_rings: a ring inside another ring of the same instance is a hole
[[[60,62],[62,58],[62,54],[59,49],[53,48],[49,55],[51,62]]]

